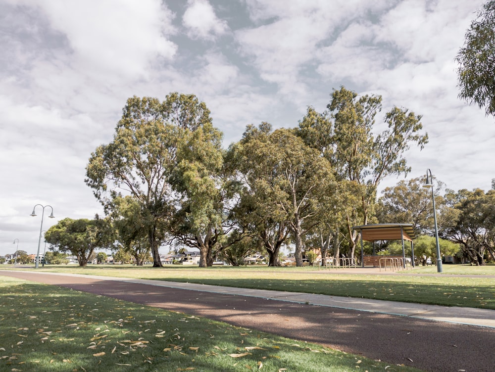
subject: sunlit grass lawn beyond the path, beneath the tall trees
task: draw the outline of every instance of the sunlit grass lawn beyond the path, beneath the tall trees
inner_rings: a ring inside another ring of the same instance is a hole
[[[10,265],[2,265],[2,269],[3,266],[9,269]],[[339,274],[338,270],[318,271],[312,267],[212,267],[205,269],[178,265],[164,268],[90,265],[86,268],[45,266],[38,270],[495,310],[495,279],[484,277],[484,275],[495,275],[495,266],[444,265],[444,274],[440,276],[411,275],[436,274],[436,267],[420,267],[392,276]],[[359,273],[359,269],[356,269],[356,273]],[[456,276],[452,277],[449,274],[456,274]]]

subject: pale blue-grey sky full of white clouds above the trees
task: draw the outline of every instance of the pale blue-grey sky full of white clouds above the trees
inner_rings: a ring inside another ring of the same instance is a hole
[[[53,207],[43,230],[102,212],[85,167],[133,95],[196,94],[227,147],[247,124],[297,126],[334,88],[381,94],[423,115],[408,177],[488,190],[495,119],[457,98],[454,62],[483,2],[0,0],[0,255],[16,238],[36,253],[36,204]]]

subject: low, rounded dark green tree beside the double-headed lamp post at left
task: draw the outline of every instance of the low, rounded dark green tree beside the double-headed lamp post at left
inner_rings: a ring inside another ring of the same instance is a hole
[[[45,233],[50,249],[77,257],[86,266],[95,248],[111,248],[115,235],[109,219],[96,215],[94,220],[65,218]]]

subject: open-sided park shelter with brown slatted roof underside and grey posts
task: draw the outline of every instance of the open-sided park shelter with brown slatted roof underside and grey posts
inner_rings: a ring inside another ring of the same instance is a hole
[[[359,230],[361,235],[361,266],[364,267],[364,248],[363,240],[376,241],[376,240],[401,240],[402,241],[402,258],[405,265],[405,250],[404,240],[411,242],[412,261],[411,264],[414,267],[414,243],[413,239],[416,238],[414,233],[414,227],[412,224],[376,224],[376,225],[361,225],[353,226],[353,230]],[[375,254],[375,248],[373,247],[373,255]]]

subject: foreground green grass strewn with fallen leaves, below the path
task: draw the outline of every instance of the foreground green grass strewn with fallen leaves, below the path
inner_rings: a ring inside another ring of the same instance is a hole
[[[0,293],[0,371],[418,371],[25,280]]]

